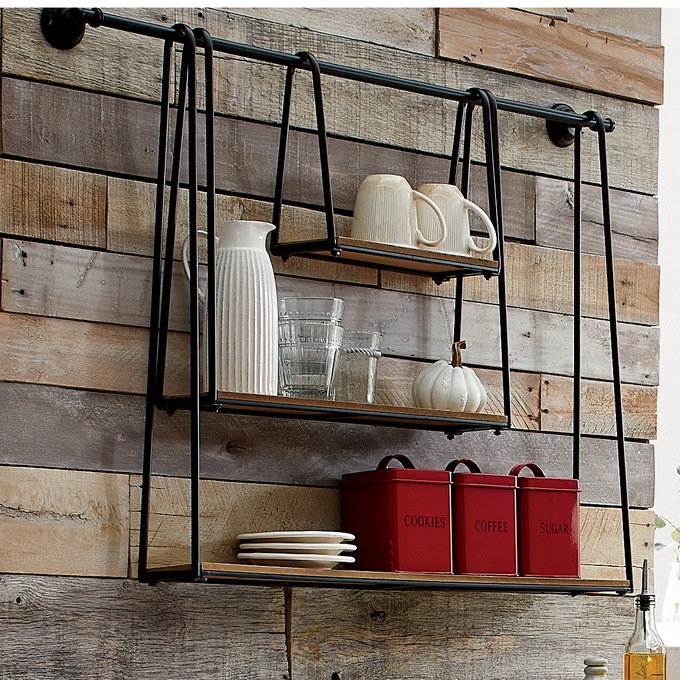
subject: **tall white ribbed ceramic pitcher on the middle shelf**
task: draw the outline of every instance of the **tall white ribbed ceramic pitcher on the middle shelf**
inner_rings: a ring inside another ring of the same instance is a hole
[[[216,229],[215,370],[224,392],[276,395],[278,389],[278,303],[265,247],[268,222],[232,220]],[[207,232],[199,230],[202,236]],[[182,245],[189,276],[189,239]],[[205,309],[205,294],[199,288]],[[207,310],[204,314],[203,374],[207,369]]]

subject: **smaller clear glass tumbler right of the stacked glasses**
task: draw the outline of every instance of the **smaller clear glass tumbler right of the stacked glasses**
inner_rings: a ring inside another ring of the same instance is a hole
[[[374,402],[381,339],[382,334],[377,331],[345,329],[335,379],[338,401]]]

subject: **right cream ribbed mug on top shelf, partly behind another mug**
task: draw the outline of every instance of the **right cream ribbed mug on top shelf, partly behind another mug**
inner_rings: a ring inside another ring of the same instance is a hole
[[[486,255],[496,247],[496,229],[493,222],[476,203],[465,198],[457,186],[422,184],[418,187],[418,191],[434,201],[446,219],[446,238],[435,247],[435,250],[469,257],[472,253]],[[478,246],[470,235],[469,210],[479,215],[489,234],[485,245]],[[421,209],[418,205],[417,213],[418,224],[421,228],[433,229],[436,226],[431,211]]]

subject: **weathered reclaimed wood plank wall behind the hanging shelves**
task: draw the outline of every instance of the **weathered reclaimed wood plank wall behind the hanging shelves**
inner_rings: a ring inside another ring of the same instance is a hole
[[[636,576],[651,555],[658,385],[660,10],[117,9],[170,26],[367,70],[550,105],[594,109],[607,136]],[[59,52],[38,9],[3,9],[0,83],[0,677],[459,680],[612,677],[630,598],[165,584],[134,578],[160,98],[159,41],[88,29]],[[218,55],[218,218],[271,218],[283,72]],[[175,70],[177,63],[175,64]],[[323,228],[310,81],[300,73],[285,235]],[[443,181],[455,106],[324,78],[338,226],[372,172]],[[428,432],[203,420],[205,539],[234,559],[241,529],[339,527],[338,482],[387,452],[490,472],[534,460],[571,470],[572,154],[544,124],[500,115],[514,426],[449,442]],[[479,136],[476,161],[483,158]],[[583,140],[584,576],[621,576],[613,387],[599,166]],[[485,205],[484,168],[471,198]],[[186,204],[186,196],[180,197]],[[202,208],[203,209],[203,208]],[[180,234],[186,213],[180,211]],[[347,323],[384,333],[378,399],[407,404],[412,377],[445,355],[455,285],[273,258],[280,294],[345,298]],[[181,268],[177,290],[185,287]],[[466,284],[466,360],[500,409],[495,285]],[[171,313],[170,374],[186,383],[186,306]],[[151,559],[184,551],[186,414],[160,414]],[[158,518],[162,518],[160,521]],[[276,526],[273,526],[276,524]]]

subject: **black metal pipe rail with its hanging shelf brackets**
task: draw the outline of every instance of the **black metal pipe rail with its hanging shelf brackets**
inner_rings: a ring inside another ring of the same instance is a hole
[[[611,239],[611,214],[609,208],[609,182],[607,177],[606,165],[606,145],[605,133],[611,132],[614,129],[614,121],[609,118],[603,118],[599,114],[588,111],[584,114],[577,114],[567,104],[554,104],[551,108],[536,106],[533,104],[516,102],[506,99],[497,99],[492,93],[480,88],[471,88],[467,91],[455,90],[441,85],[433,85],[431,83],[424,83],[415,80],[407,80],[386,74],[373,73],[362,71],[357,68],[351,68],[338,64],[317,61],[312,55],[306,52],[301,52],[296,55],[276,52],[274,50],[267,50],[249,45],[243,45],[226,40],[211,39],[209,34],[203,29],[194,29],[184,25],[177,25],[173,27],[162,26],[157,24],[145,23],[142,21],[129,19],[126,17],[119,17],[102,12],[99,9],[64,9],[64,8],[47,8],[42,10],[40,19],[41,29],[46,40],[54,47],[67,50],[76,47],[82,40],[86,27],[105,26],[115,28],[122,31],[136,33],[151,38],[160,38],[165,41],[164,61],[163,61],[163,79],[162,79],[162,98],[161,98],[161,118],[160,118],[160,136],[159,136],[159,156],[158,156],[158,176],[157,176],[157,206],[156,206],[156,224],[155,224],[155,239],[154,239],[154,258],[153,258],[153,273],[152,273],[152,301],[151,301],[151,319],[150,319],[150,343],[149,343],[149,366],[147,376],[147,403],[146,403],[146,424],[145,424],[145,438],[144,438],[144,459],[143,459],[143,482],[142,482],[142,519],[140,522],[140,559],[139,559],[139,578],[141,581],[155,581],[156,576],[149,570],[147,563],[147,547],[148,547],[148,519],[150,514],[150,480],[152,474],[151,457],[153,449],[153,414],[156,408],[165,408],[168,411],[174,410],[176,407],[191,411],[192,431],[191,431],[191,505],[192,505],[192,525],[191,525],[191,565],[188,569],[178,568],[175,571],[164,571],[158,579],[181,578],[183,580],[206,580],[209,574],[202,572],[200,562],[200,531],[199,531],[199,480],[200,480],[200,411],[201,410],[220,410],[224,407],[225,411],[236,412],[239,409],[245,413],[258,414],[260,411],[257,408],[252,408],[252,404],[242,398],[236,399],[218,399],[215,389],[214,379],[211,379],[209,394],[207,397],[201,396],[199,384],[199,301],[198,301],[198,248],[197,248],[197,231],[198,231],[198,217],[197,217],[197,131],[196,131],[196,116],[197,116],[197,102],[196,102],[196,47],[200,46],[205,49],[206,56],[206,117],[208,119],[208,126],[206,132],[207,149],[206,149],[206,171],[208,176],[208,200],[213,204],[215,199],[215,183],[214,183],[214,140],[212,132],[212,118],[214,117],[214,106],[212,102],[212,56],[213,49],[216,52],[223,52],[240,57],[255,59],[262,62],[277,64],[288,69],[286,97],[288,100],[287,110],[282,116],[282,139],[280,140],[279,153],[279,167],[277,179],[277,197],[275,204],[276,210],[280,216],[283,190],[283,170],[285,161],[285,150],[288,134],[288,121],[290,114],[290,96],[292,92],[293,75],[296,69],[306,69],[312,72],[314,82],[314,95],[317,114],[317,135],[319,137],[319,151],[321,157],[321,170],[323,181],[324,204],[326,208],[327,221],[327,239],[319,242],[319,246],[323,245],[326,249],[330,248],[333,255],[337,254],[338,243],[335,235],[335,227],[333,221],[333,201],[331,195],[330,170],[328,167],[328,149],[326,146],[326,131],[323,116],[323,104],[321,96],[321,75],[329,75],[344,79],[349,79],[361,83],[370,83],[392,89],[401,90],[404,92],[417,93],[425,96],[441,98],[451,101],[459,102],[459,109],[456,118],[456,127],[454,131],[453,151],[451,155],[451,168],[449,175],[449,182],[456,181],[456,166],[459,156],[459,145],[463,142],[463,158],[462,166],[463,173],[461,177],[461,189],[467,190],[469,180],[469,165],[470,165],[470,140],[471,140],[471,126],[473,109],[477,106],[481,108],[483,114],[484,139],[486,146],[486,169],[487,169],[487,183],[489,187],[489,202],[491,209],[491,219],[496,224],[498,232],[498,251],[496,259],[498,260],[498,270],[492,272],[499,277],[499,309],[500,309],[500,327],[501,327],[501,351],[502,351],[502,365],[503,365],[503,386],[504,386],[504,408],[506,412],[506,422],[503,429],[510,426],[510,371],[509,371],[509,352],[507,346],[507,318],[506,318],[506,292],[505,292],[505,268],[504,268],[504,254],[503,254],[503,225],[502,225],[502,209],[501,209],[501,167],[499,158],[499,143],[498,143],[498,124],[497,113],[499,110],[508,111],[511,113],[529,115],[532,117],[542,118],[546,121],[546,129],[551,141],[558,147],[566,148],[575,144],[575,160],[574,160],[574,184],[575,184],[575,217],[574,217],[574,252],[575,252],[575,269],[580,270],[580,186],[581,186],[581,130],[584,128],[594,130],[598,134],[599,143],[599,158],[601,171],[601,188],[602,188],[602,206],[603,206],[603,223],[605,231],[605,254],[607,263],[607,282],[609,294],[609,318],[610,318],[610,334],[612,344],[612,363],[613,363],[613,380],[615,391],[615,406],[616,406],[616,425],[617,425],[617,443],[619,453],[619,481],[621,489],[621,511],[623,524],[623,542],[624,555],[626,561],[626,579],[627,586],[616,587],[616,592],[631,592],[633,583],[632,573],[632,552],[630,542],[630,518],[628,508],[628,491],[626,480],[626,461],[625,461],[625,436],[623,428],[623,407],[621,396],[621,375],[619,366],[618,354],[618,339],[617,339],[617,321],[616,321],[616,299],[614,286],[614,270],[613,270],[613,248]],[[173,165],[171,171],[170,185],[171,192],[168,205],[165,205],[164,191],[166,187],[166,165],[168,156],[168,131],[169,131],[169,112],[170,112],[170,88],[171,88],[171,61],[173,56],[174,44],[184,45],[182,50],[182,65],[179,76],[179,91],[178,91],[178,112],[175,121],[175,148],[173,150]],[[189,223],[190,223],[190,246],[191,246],[191,394],[182,403],[171,402],[163,397],[163,376],[165,368],[165,351],[167,345],[168,334],[168,314],[169,314],[169,296],[170,296],[170,279],[172,262],[173,243],[175,238],[175,212],[177,191],[179,186],[180,163],[182,158],[182,140],[184,129],[184,117],[188,112],[188,166],[189,166],[189,188],[190,188],[190,205],[189,205]],[[463,127],[465,126],[465,127]],[[167,216],[165,215],[167,207]],[[276,217],[276,216],[275,216]],[[278,225],[278,217],[274,220]],[[207,229],[209,233],[209,245],[214,240],[214,212],[209,210],[207,217]],[[163,235],[166,237],[166,255],[165,261],[162,253]],[[276,249],[281,251],[282,256],[294,254],[292,245],[279,244],[274,242]],[[308,244],[311,246],[315,243]],[[345,245],[348,250],[351,245]],[[310,248],[311,254],[318,250]],[[366,250],[366,249],[364,249]],[[301,251],[309,255],[307,251]],[[403,260],[408,260],[410,255],[399,255]],[[214,251],[209,249],[209,275],[210,270],[214,267]],[[431,263],[430,263],[431,264]],[[164,266],[165,265],[165,266]],[[373,266],[373,265],[371,265]],[[409,270],[410,271],[410,270]],[[460,267],[457,271],[460,271]],[[467,274],[483,273],[485,276],[491,275],[490,272],[477,270],[473,272],[468,271]],[[457,291],[456,310],[462,307],[462,276],[463,274],[453,274],[448,271],[435,272],[435,280],[445,280],[452,276],[457,277],[457,281],[461,284],[457,286],[460,289],[460,296]],[[212,272],[214,275],[214,272]],[[213,288],[210,284],[209,289]],[[580,309],[580,278],[575,277],[575,302],[574,302],[574,317],[578,323],[581,316]],[[214,326],[214,300],[208,296],[207,304],[209,305],[210,323]],[[460,319],[455,322],[456,326],[454,333],[459,334]],[[213,336],[213,326],[209,329],[209,335]],[[574,414],[575,420],[580,420],[580,334],[575,334],[575,348],[574,348]],[[214,374],[214,346],[208,346],[207,354],[209,355],[209,373]],[[239,400],[240,399],[240,400]],[[321,420],[328,421],[350,421],[355,422],[353,418],[365,418],[365,413],[353,413],[351,410],[342,409],[337,412],[323,412],[322,405],[307,406],[306,410],[300,413],[300,409],[294,408],[293,405],[283,404],[277,402],[276,414],[279,417],[307,417],[316,419],[317,416]],[[316,413],[315,411],[319,411]],[[414,427],[413,418],[409,420],[407,414],[397,414],[388,423],[399,427]],[[368,422],[364,420],[364,422]],[[475,429],[493,429],[495,434],[500,433],[500,428],[497,423],[491,422],[475,422],[475,423],[458,423],[457,427],[450,425],[450,420],[446,422],[437,422],[433,426],[431,422],[418,421],[418,426],[426,426],[426,429],[443,429],[449,436],[453,437],[465,431],[472,431]],[[492,427],[493,425],[493,427]],[[574,477],[578,477],[579,473],[579,438],[580,429],[575,427],[574,431]],[[218,575],[218,577],[220,577]],[[217,577],[216,577],[217,578]],[[256,579],[254,575],[247,578]],[[319,580],[319,579],[317,579]],[[329,585],[333,584],[333,579],[329,581]],[[323,579],[319,583],[325,583]],[[374,585],[374,584],[371,584]],[[384,583],[378,579],[378,586],[394,587],[391,582]],[[352,586],[353,587],[353,586]],[[418,586],[420,587],[420,586]],[[460,587],[460,586],[456,586]],[[476,586],[475,586],[476,587]],[[484,589],[488,589],[489,584],[483,584]],[[505,586],[499,585],[498,588]],[[530,584],[516,584],[508,585],[508,589],[522,590],[530,589]],[[582,586],[575,586],[575,592],[585,592]]]

